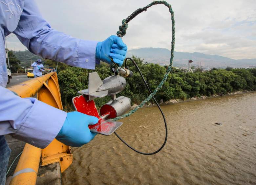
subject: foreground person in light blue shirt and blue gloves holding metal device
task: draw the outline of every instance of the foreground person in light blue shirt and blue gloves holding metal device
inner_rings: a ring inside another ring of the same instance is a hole
[[[68,25],[67,25],[68,26]],[[33,146],[45,148],[54,138],[69,146],[90,142],[95,133],[88,125],[98,119],[79,112],[66,113],[35,98],[20,98],[6,89],[5,37],[15,34],[30,52],[67,65],[95,69],[99,61],[121,66],[127,46],[117,36],[102,42],[73,38],[56,31],[45,21],[33,0],[0,2],[0,184],[5,184],[10,134]],[[47,116],[45,116],[47,115]]]

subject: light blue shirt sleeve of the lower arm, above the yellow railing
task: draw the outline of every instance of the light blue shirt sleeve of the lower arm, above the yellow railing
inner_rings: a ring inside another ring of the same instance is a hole
[[[20,98],[0,86],[0,135],[11,134],[45,148],[59,133],[67,113],[35,98]]]

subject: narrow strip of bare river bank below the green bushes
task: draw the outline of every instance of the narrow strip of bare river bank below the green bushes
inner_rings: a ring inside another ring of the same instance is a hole
[[[232,92],[232,93],[227,93],[225,95],[213,94],[211,96],[199,96],[199,97],[188,98],[186,100],[173,99],[173,100],[169,100],[167,102],[162,102],[162,103],[160,103],[160,105],[171,105],[171,104],[176,104],[176,103],[191,102],[191,101],[196,101],[196,100],[205,100],[205,99],[209,99],[209,98],[225,97],[225,96],[230,96],[230,95],[245,94],[245,93],[252,93],[252,92],[256,92],[256,91],[246,91],[246,90],[245,91],[236,91],[236,92]],[[133,104],[131,106],[131,108],[135,108],[137,106],[138,106],[138,104]],[[154,106],[157,106],[156,103],[149,103],[148,105],[144,105],[141,108],[154,107]]]

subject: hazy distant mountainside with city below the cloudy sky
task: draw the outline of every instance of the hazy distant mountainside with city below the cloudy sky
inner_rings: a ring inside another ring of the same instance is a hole
[[[135,55],[137,57],[144,58],[147,62],[168,64],[170,60],[170,53],[171,51],[166,48],[146,47],[129,50],[127,52],[127,57]],[[193,65],[195,66],[202,65],[205,67],[248,67],[256,65],[256,59],[234,60],[219,55],[207,55],[198,52],[174,52],[174,66],[185,66],[187,65],[188,60],[192,60]]]

